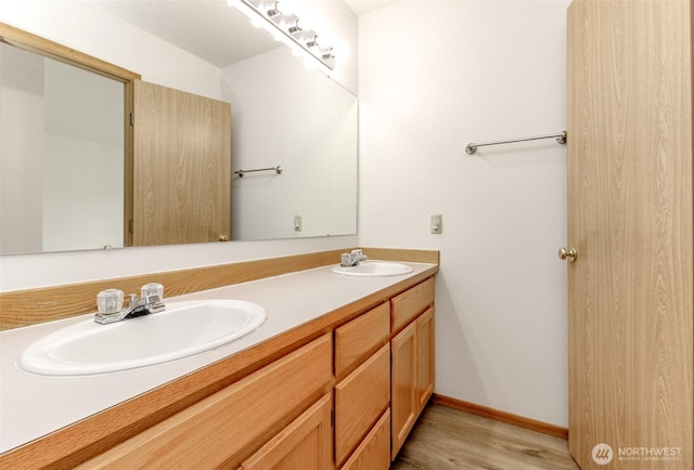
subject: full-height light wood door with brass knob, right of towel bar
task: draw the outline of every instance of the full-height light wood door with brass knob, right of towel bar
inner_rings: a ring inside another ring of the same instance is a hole
[[[569,448],[583,469],[692,465],[691,8],[568,11]]]

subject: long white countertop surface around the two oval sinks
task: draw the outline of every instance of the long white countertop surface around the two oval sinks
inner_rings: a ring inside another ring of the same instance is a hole
[[[412,272],[401,275],[346,276],[333,273],[334,265],[329,265],[171,298],[166,297],[164,286],[165,303],[213,299],[244,300],[262,306],[267,312],[267,319],[256,330],[214,350],[168,363],[117,373],[46,377],[28,374],[17,366],[20,353],[34,341],[57,329],[93,317],[93,313],[2,331],[0,454],[283,334],[310,326],[331,313],[359,304],[378,292],[390,295],[390,290],[400,283],[403,283],[404,289],[434,275],[438,270],[436,264],[407,264],[412,267]],[[368,306],[368,303],[363,304],[363,308]],[[138,318],[133,318],[127,322],[137,321]],[[331,318],[331,322],[342,321],[339,317]],[[102,327],[108,328],[108,325]],[[324,324],[316,325],[317,332],[322,328],[325,328]],[[308,328],[306,331],[311,329]],[[128,344],[123,344],[121,348],[128,348]]]

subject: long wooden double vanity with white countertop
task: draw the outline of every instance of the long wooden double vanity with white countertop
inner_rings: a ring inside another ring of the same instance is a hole
[[[2,397],[2,420],[28,429],[53,419],[30,409],[61,409],[52,429],[1,454],[0,467],[386,469],[434,388],[438,264],[408,264],[413,271],[397,276],[343,276],[327,265],[180,296],[256,302],[268,319],[232,343],[152,367],[30,376],[8,369],[5,352],[21,341],[3,341],[3,381],[17,383]],[[7,416],[10,405],[28,415]]]

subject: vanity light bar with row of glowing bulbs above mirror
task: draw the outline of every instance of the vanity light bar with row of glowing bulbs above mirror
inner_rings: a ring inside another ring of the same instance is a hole
[[[335,68],[333,48],[323,44],[318,34],[304,28],[300,19],[293,13],[283,12],[280,1],[226,0],[227,4],[246,15],[255,25],[260,25],[279,41],[293,51],[308,54],[318,61],[318,68],[329,74]]]

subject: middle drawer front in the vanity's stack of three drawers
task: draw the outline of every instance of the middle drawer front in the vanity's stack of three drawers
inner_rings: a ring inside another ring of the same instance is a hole
[[[390,345],[335,386],[335,462],[340,465],[390,402]]]

